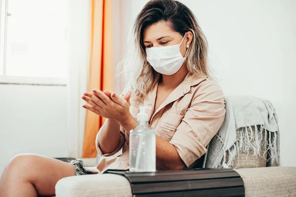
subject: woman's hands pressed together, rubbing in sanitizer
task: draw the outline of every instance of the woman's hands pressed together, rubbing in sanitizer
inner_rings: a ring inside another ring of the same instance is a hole
[[[90,104],[90,106],[83,105],[82,107],[105,118],[113,119],[119,124],[130,115],[128,101],[115,93],[111,93],[111,98],[109,98],[101,90],[94,89],[93,92],[84,93],[82,99]]]

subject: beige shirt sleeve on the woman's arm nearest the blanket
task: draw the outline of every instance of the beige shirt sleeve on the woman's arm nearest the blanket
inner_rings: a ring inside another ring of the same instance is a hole
[[[219,131],[225,117],[220,86],[209,79],[199,86],[170,141],[187,167],[207,152],[206,146]]]

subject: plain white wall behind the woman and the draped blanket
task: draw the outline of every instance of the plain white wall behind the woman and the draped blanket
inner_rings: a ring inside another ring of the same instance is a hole
[[[148,0],[124,0],[122,39]],[[296,1],[181,0],[209,41],[209,63],[224,94],[270,100],[280,120],[281,165],[296,166]],[[129,5],[129,6],[127,6]],[[123,44],[124,48],[126,45]]]

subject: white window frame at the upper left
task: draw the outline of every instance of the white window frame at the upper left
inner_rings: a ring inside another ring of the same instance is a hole
[[[8,1],[0,0],[0,29],[4,28],[4,34],[0,32],[0,70],[3,71],[3,74],[0,74],[0,84],[66,86],[67,77],[10,76],[6,74]],[[2,4],[5,5],[5,8]],[[2,24],[1,17],[3,16],[4,23]]]

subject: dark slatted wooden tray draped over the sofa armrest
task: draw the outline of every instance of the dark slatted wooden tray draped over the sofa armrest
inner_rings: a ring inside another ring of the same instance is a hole
[[[244,197],[244,182],[232,169],[188,168],[156,172],[108,169],[131,184],[133,197]]]

